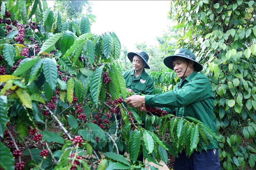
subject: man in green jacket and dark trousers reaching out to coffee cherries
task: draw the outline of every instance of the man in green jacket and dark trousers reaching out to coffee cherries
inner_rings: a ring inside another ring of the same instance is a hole
[[[204,74],[197,73],[202,70],[202,65],[196,61],[195,55],[188,49],[179,49],[166,57],[164,64],[181,78],[174,90],[157,95],[134,95],[126,99],[127,105],[168,107],[176,116],[199,119],[217,133],[212,87]],[[195,151],[190,157],[182,151],[175,159],[174,170],[220,170],[218,142],[210,143],[207,152]]]

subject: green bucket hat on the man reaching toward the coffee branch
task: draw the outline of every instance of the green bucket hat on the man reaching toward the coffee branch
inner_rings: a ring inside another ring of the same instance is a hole
[[[196,61],[196,56],[194,53],[192,53],[191,51],[189,51],[187,48],[181,48],[175,51],[174,55],[172,56],[168,56],[164,59],[164,64],[173,70],[173,65],[172,65],[172,60],[174,57],[183,57],[183,58],[187,58],[190,59],[192,61],[194,61],[194,69],[199,72],[202,70],[202,65],[200,63],[198,63]]]

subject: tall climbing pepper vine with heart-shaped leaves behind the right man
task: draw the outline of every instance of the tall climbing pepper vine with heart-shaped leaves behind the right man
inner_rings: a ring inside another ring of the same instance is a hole
[[[196,53],[213,87],[223,169],[255,168],[255,1],[173,1],[171,6],[184,31],[177,46]]]

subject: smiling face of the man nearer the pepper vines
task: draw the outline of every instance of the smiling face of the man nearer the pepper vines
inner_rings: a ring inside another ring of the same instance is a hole
[[[187,67],[187,64],[188,64],[188,61],[186,61],[182,57],[178,57],[177,59],[174,59],[174,61],[172,61],[173,69],[176,72],[176,74],[179,76],[179,78],[182,78],[182,76],[186,71],[186,68],[187,68],[187,71],[186,71],[186,74],[184,75],[184,78],[189,76],[194,71],[194,66],[193,66],[194,62],[190,60],[188,67]]]

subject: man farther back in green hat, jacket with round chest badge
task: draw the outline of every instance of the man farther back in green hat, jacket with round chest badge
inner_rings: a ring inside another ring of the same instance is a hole
[[[123,74],[127,91],[141,94],[154,94],[154,81],[144,68],[150,69],[147,61],[149,55],[145,52],[128,53],[133,69]]]

